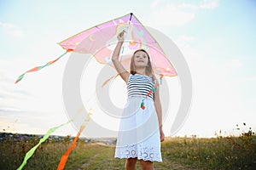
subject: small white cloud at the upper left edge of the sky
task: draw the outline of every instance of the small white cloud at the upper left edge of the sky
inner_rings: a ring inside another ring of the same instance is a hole
[[[0,27],[3,27],[4,30],[12,37],[25,37],[24,31],[18,29],[17,26],[15,26],[14,24],[0,21]]]

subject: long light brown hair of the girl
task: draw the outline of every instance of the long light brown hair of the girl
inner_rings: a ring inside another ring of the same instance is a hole
[[[144,49],[137,49],[134,53],[133,53],[133,55],[132,55],[132,57],[131,57],[131,65],[130,65],[130,73],[132,74],[132,75],[134,75],[134,74],[136,74],[137,72],[136,72],[136,69],[135,69],[135,64],[134,64],[134,57],[135,57],[135,54],[137,53],[137,52],[139,52],[139,51],[143,51],[145,54],[147,54],[147,56],[148,56],[148,64],[147,64],[147,66],[146,66],[146,75],[148,76],[148,77],[151,77],[152,78],[152,81],[154,82],[155,80],[156,80],[156,77],[154,76],[154,71],[153,71],[153,69],[152,69],[152,65],[151,65],[151,61],[150,61],[150,58],[149,58],[149,55],[148,55],[148,53],[144,50]]]

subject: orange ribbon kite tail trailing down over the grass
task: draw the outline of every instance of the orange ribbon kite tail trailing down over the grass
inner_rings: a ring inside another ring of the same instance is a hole
[[[80,126],[79,128],[79,133],[77,134],[77,136],[75,137],[75,139],[73,140],[73,143],[71,144],[71,146],[67,149],[67,152],[65,154],[63,154],[63,156],[61,156],[61,161],[59,163],[59,166],[57,168],[57,170],[62,170],[64,169],[66,162],[67,162],[67,158],[70,154],[70,152],[74,149],[74,147],[76,146],[77,140],[79,139],[80,134],[83,132],[84,127],[86,127],[87,123],[90,121],[90,116],[91,113],[88,113],[88,116],[86,117],[84,123]]]

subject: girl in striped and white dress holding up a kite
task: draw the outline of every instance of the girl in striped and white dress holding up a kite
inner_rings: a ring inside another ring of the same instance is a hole
[[[162,161],[160,141],[162,130],[159,83],[154,77],[148,53],[139,49],[131,58],[130,73],[119,62],[124,31],[118,35],[112,62],[127,84],[128,99],[120,121],[115,157],[126,158],[125,169],[154,169],[153,161]],[[151,93],[150,93],[151,92]]]

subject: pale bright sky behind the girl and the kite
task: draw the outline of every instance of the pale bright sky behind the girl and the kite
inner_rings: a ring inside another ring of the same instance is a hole
[[[249,127],[255,132],[255,8],[253,0],[0,0],[0,132],[44,134],[50,127],[67,122],[62,78],[70,54],[42,71],[27,74],[18,84],[16,78],[63,54],[57,42],[131,12],[145,26],[171,38],[189,65],[193,81],[189,116],[172,135],[212,137],[220,130],[222,135],[230,135],[246,132]],[[93,84],[96,65],[92,59],[83,85],[88,79]],[[164,121],[168,136],[181,94],[178,77],[165,80],[172,94]],[[125,97],[114,93],[116,86],[125,91],[117,78],[110,97],[114,104],[123,105]],[[81,95],[86,100],[92,94],[83,88]],[[102,120],[100,113],[93,113],[91,118],[102,126],[118,127]],[[237,132],[236,125],[242,127],[241,131]],[[68,124],[54,134],[76,133]],[[108,134],[87,129],[84,136]]]

